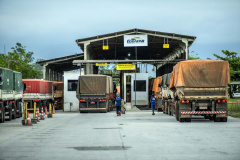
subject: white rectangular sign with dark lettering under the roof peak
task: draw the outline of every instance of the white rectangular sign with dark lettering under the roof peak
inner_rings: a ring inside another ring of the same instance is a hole
[[[148,46],[148,36],[145,35],[124,35],[124,47]]]

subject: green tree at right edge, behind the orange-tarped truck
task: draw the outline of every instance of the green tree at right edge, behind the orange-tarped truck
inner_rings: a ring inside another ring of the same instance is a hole
[[[237,52],[230,52],[228,50],[222,50],[225,57],[221,57],[217,54],[213,54],[217,59],[228,61],[230,69],[230,77],[232,81],[240,80],[240,57],[237,56]]]

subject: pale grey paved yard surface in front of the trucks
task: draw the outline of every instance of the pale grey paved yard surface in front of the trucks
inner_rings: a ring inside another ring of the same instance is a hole
[[[57,111],[33,126],[21,119],[0,124],[0,160],[236,160],[240,119],[179,123],[162,112]]]

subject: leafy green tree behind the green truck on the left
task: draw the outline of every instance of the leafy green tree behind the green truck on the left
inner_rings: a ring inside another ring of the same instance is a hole
[[[12,52],[9,54],[9,69],[21,72],[23,78],[41,78],[39,70],[35,70],[35,64],[31,64],[34,60],[33,52],[26,52],[26,47],[21,43],[16,43],[15,47],[12,47]],[[5,67],[5,60],[8,66],[8,56],[1,55],[0,66]],[[5,59],[6,58],[6,59]]]

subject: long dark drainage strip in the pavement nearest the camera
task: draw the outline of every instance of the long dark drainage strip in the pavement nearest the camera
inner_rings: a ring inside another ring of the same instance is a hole
[[[78,151],[109,151],[109,150],[127,150],[130,147],[124,146],[91,146],[91,147],[70,147]]]

